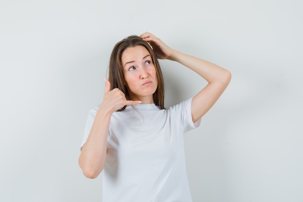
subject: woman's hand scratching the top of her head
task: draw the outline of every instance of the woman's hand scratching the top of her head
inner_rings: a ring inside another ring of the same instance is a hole
[[[169,59],[171,56],[173,49],[168,47],[163,41],[150,32],[144,32],[139,37],[151,45],[152,50],[158,59]]]

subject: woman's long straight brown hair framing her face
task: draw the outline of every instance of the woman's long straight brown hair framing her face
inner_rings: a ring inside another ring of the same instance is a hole
[[[108,80],[110,82],[110,90],[113,90],[114,88],[120,89],[124,94],[127,100],[130,100],[128,89],[125,85],[126,81],[124,78],[124,72],[121,62],[121,56],[124,50],[128,47],[136,47],[136,46],[142,46],[145,47],[151,54],[152,57],[152,63],[155,66],[156,69],[156,77],[158,81],[158,87],[153,93],[153,101],[156,106],[158,106],[160,109],[164,108],[164,80],[162,71],[159,65],[159,62],[152,51],[152,47],[145,42],[143,39],[136,35],[129,36],[120,42],[118,42],[115,47],[113,48],[113,51],[110,55],[110,61],[109,61],[109,75]],[[118,111],[124,110],[126,106],[119,109]]]

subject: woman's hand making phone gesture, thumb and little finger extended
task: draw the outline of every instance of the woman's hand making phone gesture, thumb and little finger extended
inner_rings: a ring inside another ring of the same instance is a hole
[[[105,78],[105,91],[102,105],[111,112],[115,112],[125,105],[137,105],[140,103],[141,101],[126,100],[124,93],[118,88],[110,91],[110,82]]]

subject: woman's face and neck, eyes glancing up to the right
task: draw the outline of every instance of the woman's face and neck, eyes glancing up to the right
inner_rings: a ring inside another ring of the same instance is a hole
[[[143,46],[128,47],[122,53],[121,62],[130,98],[142,104],[154,103],[158,81],[149,51]]]

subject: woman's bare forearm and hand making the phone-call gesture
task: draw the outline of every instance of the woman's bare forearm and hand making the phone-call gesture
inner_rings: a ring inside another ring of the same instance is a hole
[[[113,112],[125,105],[140,104],[140,101],[126,100],[119,89],[110,91],[110,83],[106,79],[103,102],[100,105],[91,132],[81,148],[79,166],[88,178],[96,178],[103,170],[106,158],[106,145],[110,118]]]

